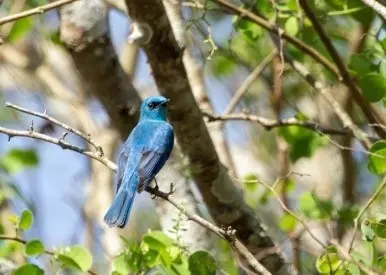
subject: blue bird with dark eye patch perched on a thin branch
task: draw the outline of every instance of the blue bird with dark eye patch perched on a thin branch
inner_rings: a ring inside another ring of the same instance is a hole
[[[167,121],[168,102],[151,96],[141,104],[139,121],[119,155],[117,192],[104,216],[110,227],[125,227],[136,193],[145,190],[170,156],[174,131]]]

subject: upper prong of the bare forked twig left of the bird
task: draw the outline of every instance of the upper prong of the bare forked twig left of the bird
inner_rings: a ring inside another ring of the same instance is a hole
[[[10,102],[6,102],[5,103],[5,107],[9,107],[9,108],[12,108],[14,110],[17,110],[19,112],[22,112],[22,113],[26,113],[26,114],[29,114],[29,115],[33,115],[33,116],[36,116],[36,117],[40,117],[40,118],[43,118],[47,121],[50,121],[60,127],[62,127],[63,129],[75,134],[75,135],[78,135],[80,136],[81,138],[83,138],[85,141],[87,141],[89,144],[91,144],[95,150],[97,150],[101,155],[103,155],[103,151],[102,151],[102,148],[100,146],[98,146],[94,140],[91,139],[90,135],[85,135],[83,134],[81,131],[73,128],[73,127],[70,127],[68,126],[67,124],[64,124],[62,122],[60,122],[59,120],[47,115],[46,112],[44,113],[39,113],[39,112],[35,112],[35,111],[31,111],[31,110],[28,110],[28,109],[25,109],[25,108],[22,108],[20,106],[17,106],[15,104],[12,104]]]

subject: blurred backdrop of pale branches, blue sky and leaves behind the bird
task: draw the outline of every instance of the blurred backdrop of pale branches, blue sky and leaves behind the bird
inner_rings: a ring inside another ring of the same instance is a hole
[[[96,31],[110,33],[107,37],[113,46],[103,48],[105,52],[98,52],[98,48],[89,51],[106,60],[118,59],[119,63],[112,66],[121,67],[127,83],[132,83],[140,98],[157,94],[159,91],[146,55],[135,43],[127,42],[132,22],[126,15],[123,1],[81,2],[86,3],[86,7],[89,5],[90,17],[99,16],[100,24],[106,24],[103,30]],[[46,0],[4,0],[0,2],[0,17],[47,3]],[[297,1],[234,1],[234,4],[260,12],[331,61]],[[97,5],[96,10],[93,5]],[[359,0],[310,1],[310,5],[354,77],[370,71],[386,77],[384,21],[380,17]],[[196,97],[203,111],[213,115],[251,114],[274,120],[296,117],[315,121],[325,128],[345,129],[324,97],[282,62],[262,27],[225,12],[211,1],[182,1],[182,11],[188,50],[199,72],[204,97],[210,102],[208,107],[207,101],[199,101]],[[36,112],[47,112],[90,134],[102,146],[105,156],[116,162],[122,147],[122,129],[120,133],[117,131],[113,117],[101,103],[104,100],[101,97],[115,96],[116,86],[106,86],[103,79],[94,78],[91,71],[98,63],[90,61],[92,55],[82,59],[81,51],[78,54],[69,46],[65,29],[67,19],[64,14],[59,18],[58,11],[50,10],[0,26],[3,40],[0,45],[0,125],[19,130],[33,127],[34,131],[62,137],[64,129],[6,108],[4,104],[8,101]],[[90,31],[83,34],[86,38],[79,39],[87,39],[89,34]],[[330,87],[329,93],[363,131],[374,140],[379,139],[347,88],[330,71],[293,45],[285,47],[292,58]],[[81,68],[80,62],[83,62]],[[115,67],[110,68],[110,72],[112,82],[120,81],[117,80],[120,76],[114,75]],[[105,94],[98,96],[92,91],[96,85],[111,89],[105,89]],[[232,106],[230,102],[237,93],[242,96]],[[374,103],[374,108],[386,117],[385,98]],[[351,236],[347,232],[351,232],[349,228],[359,205],[380,182],[368,169],[365,148],[351,135],[324,135],[300,127],[267,130],[258,123],[242,119],[206,121],[215,146],[217,142],[225,143],[226,166],[237,188],[242,190],[246,204],[267,225],[269,235],[289,261],[299,261],[296,268],[301,274],[317,274],[314,262],[322,248],[311,253],[316,247],[314,240],[301,232],[297,221],[283,214],[277,198],[258,182],[271,185],[292,171],[290,177],[277,185],[279,197],[289,208],[300,211],[321,239],[328,239],[339,231],[338,237],[344,240]],[[82,148],[90,146],[71,133],[65,140]],[[222,153],[218,151],[218,154]],[[179,201],[211,220],[178,145],[157,179],[165,191],[171,182],[175,183]],[[7,135],[0,135],[0,184],[2,234],[14,235],[14,220],[9,217],[20,216],[23,210],[30,209],[34,221],[32,227],[22,233],[24,239],[40,239],[47,249],[81,244],[93,255],[93,267],[100,274],[110,272],[112,258],[122,250],[124,242],[119,235],[140,242],[149,229],[162,230],[188,251],[210,251],[217,262],[218,274],[249,274],[240,268],[239,259],[225,241],[187,221],[168,203],[152,200],[147,193],[137,196],[127,228],[106,227],[103,215],[116,189],[115,174],[102,164],[57,145],[21,137],[9,140]],[[332,210],[328,210],[326,216],[315,209],[312,210],[314,214],[317,212],[315,215],[307,215],[310,194],[328,202],[327,208]],[[372,206],[376,215],[385,214],[381,201]],[[344,210],[347,211],[342,214]],[[291,237],[296,234],[299,238]],[[294,250],[294,239],[301,240],[298,246],[304,249]],[[0,257],[17,265],[32,261],[47,274],[61,274],[58,272],[62,270],[58,271],[48,258],[27,258],[22,251],[22,245],[1,241]]]

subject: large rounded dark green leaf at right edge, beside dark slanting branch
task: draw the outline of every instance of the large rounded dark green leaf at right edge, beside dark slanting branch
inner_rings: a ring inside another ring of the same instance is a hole
[[[368,73],[358,80],[363,96],[370,102],[377,102],[385,96],[386,79],[379,73]]]

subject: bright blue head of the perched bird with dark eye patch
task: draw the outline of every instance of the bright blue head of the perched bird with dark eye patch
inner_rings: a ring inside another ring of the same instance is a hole
[[[167,119],[167,103],[169,99],[163,96],[151,96],[146,98],[141,105],[140,119]]]

